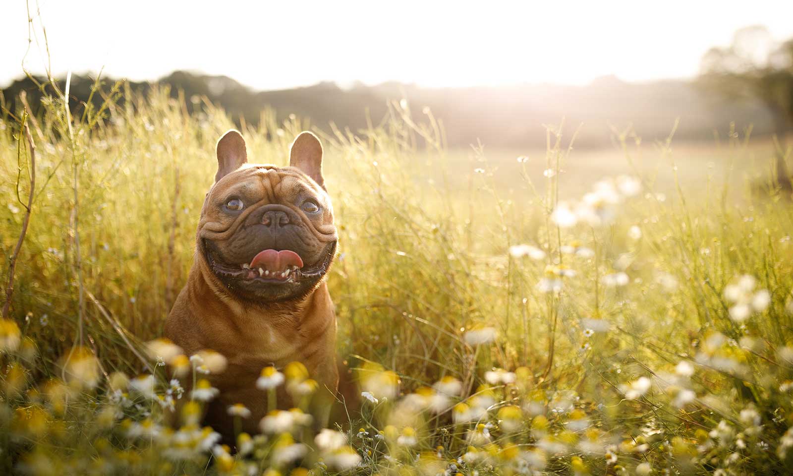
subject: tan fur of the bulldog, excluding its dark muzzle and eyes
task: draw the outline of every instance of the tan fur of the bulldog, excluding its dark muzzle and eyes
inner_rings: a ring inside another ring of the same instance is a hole
[[[225,196],[232,189],[247,190],[248,194],[260,198],[258,203],[288,203],[290,194],[311,190],[312,198],[324,204],[325,211],[315,221],[306,219],[304,226],[312,231],[317,246],[336,239],[330,199],[316,179],[308,178],[294,167],[242,165],[236,170],[223,171],[226,159],[221,155],[228,155],[221,153],[224,140],[218,144],[217,182],[201,210],[197,249],[200,249],[202,237],[227,236],[236,232],[245,220],[245,213],[230,220],[211,205],[214,197]],[[239,148],[238,140],[225,141]],[[313,141],[319,144],[316,137]],[[316,154],[316,147],[311,150],[311,145],[301,144],[300,147]],[[238,155],[244,153],[244,141],[242,148],[242,152],[237,151]],[[321,147],[319,153],[321,160]],[[239,165],[234,159],[232,164]],[[319,178],[321,180],[321,171]],[[242,403],[252,412],[252,416],[243,421],[243,430],[259,431],[259,420],[266,413],[267,402],[266,392],[257,389],[255,382],[262,368],[269,365],[283,368],[292,361],[304,363],[312,378],[320,384],[320,405],[329,407],[339,382],[335,332],[333,303],[324,278],[302,300],[243,301],[225,288],[200,251],[195,255],[186,286],[174,303],[165,328],[166,336],[183,347],[188,355],[201,349],[213,349],[228,359],[228,368],[222,374],[209,376],[220,395],[209,405],[206,417],[207,423],[224,435],[232,432],[232,419],[227,416],[226,408],[235,403]],[[290,405],[289,398],[279,393],[278,406],[289,408]],[[329,408],[322,411],[329,411]]]

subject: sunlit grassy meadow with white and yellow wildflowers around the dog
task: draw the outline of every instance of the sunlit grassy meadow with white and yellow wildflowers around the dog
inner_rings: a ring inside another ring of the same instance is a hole
[[[197,417],[223,359],[159,337],[232,121],[164,90],[103,94],[74,117],[52,98],[0,122],[4,289],[16,265],[0,473],[793,470],[793,207],[772,142],[678,146],[670,125],[578,151],[577,125],[558,125],[545,150],[449,151],[404,102],[321,133],[340,236],[328,284],[362,405],[321,432],[305,408],[275,412],[226,447]],[[254,161],[285,165],[310,127],[265,112],[242,132]]]

